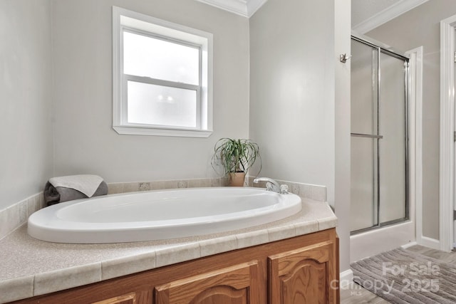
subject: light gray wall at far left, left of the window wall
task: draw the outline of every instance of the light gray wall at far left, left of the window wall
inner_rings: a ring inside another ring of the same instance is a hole
[[[52,173],[51,1],[0,1],[0,210]]]

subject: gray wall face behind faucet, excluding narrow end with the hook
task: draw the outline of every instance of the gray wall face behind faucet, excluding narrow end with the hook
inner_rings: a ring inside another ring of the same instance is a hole
[[[334,202],[334,1],[269,0],[250,18],[250,135],[261,175]]]

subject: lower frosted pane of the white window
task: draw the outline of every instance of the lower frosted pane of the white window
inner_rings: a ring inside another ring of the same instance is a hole
[[[197,127],[197,92],[128,81],[128,122]]]

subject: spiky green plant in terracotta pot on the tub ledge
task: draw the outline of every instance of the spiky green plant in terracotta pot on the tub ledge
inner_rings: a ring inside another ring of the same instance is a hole
[[[229,177],[229,185],[242,187],[244,185],[245,175],[253,166],[254,162],[260,160],[259,147],[252,140],[233,140],[231,138],[222,138],[214,146],[214,155],[212,156],[212,167],[220,164],[223,168],[224,176]]]

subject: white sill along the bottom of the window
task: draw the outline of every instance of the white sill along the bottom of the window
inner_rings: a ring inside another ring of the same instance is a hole
[[[209,130],[185,130],[185,129],[160,129],[155,127],[125,127],[113,126],[115,132],[122,135],[155,135],[155,136],[176,136],[176,137],[203,137],[207,138],[212,134]]]

